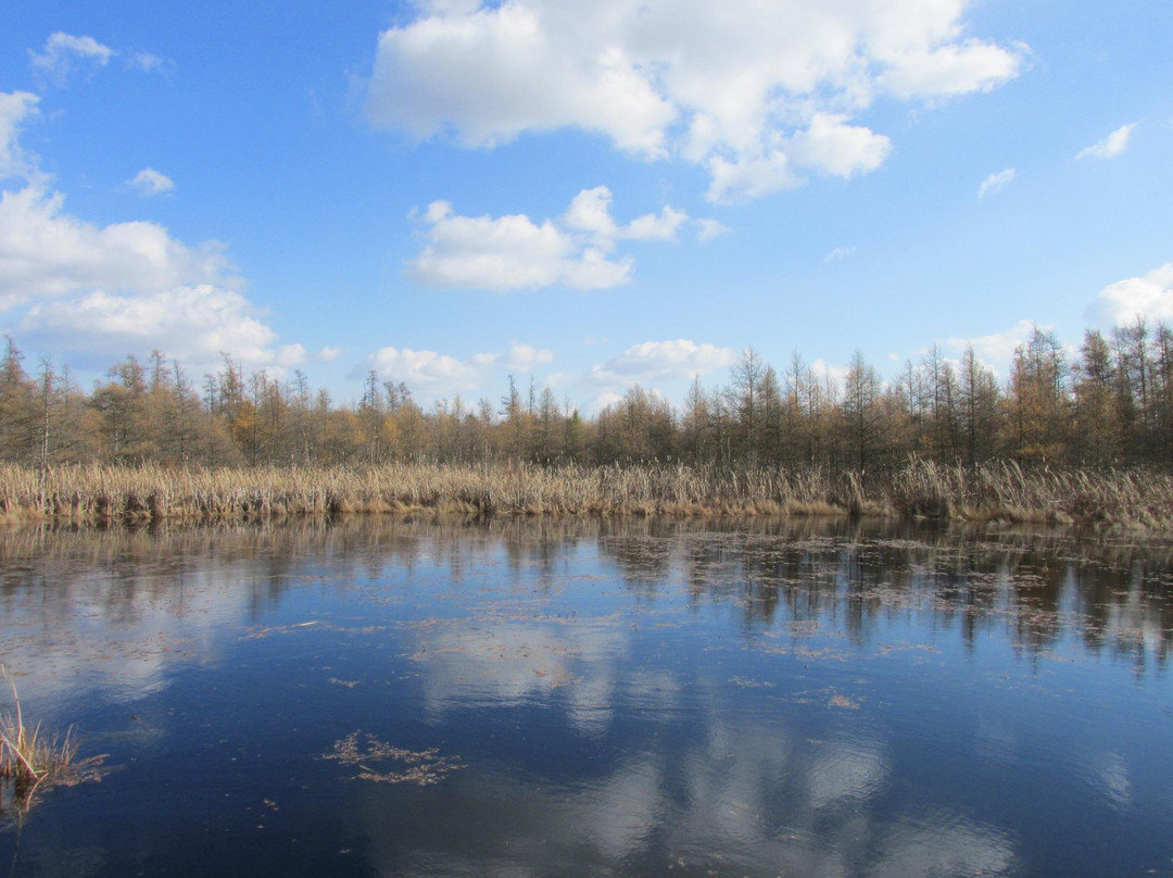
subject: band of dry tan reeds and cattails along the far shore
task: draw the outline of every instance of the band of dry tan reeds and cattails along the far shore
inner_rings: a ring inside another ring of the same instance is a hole
[[[0,466],[0,521],[79,524],[303,514],[890,515],[1173,527],[1173,478],[1141,470],[941,466],[888,473],[650,464],[388,464],[245,470]]]

